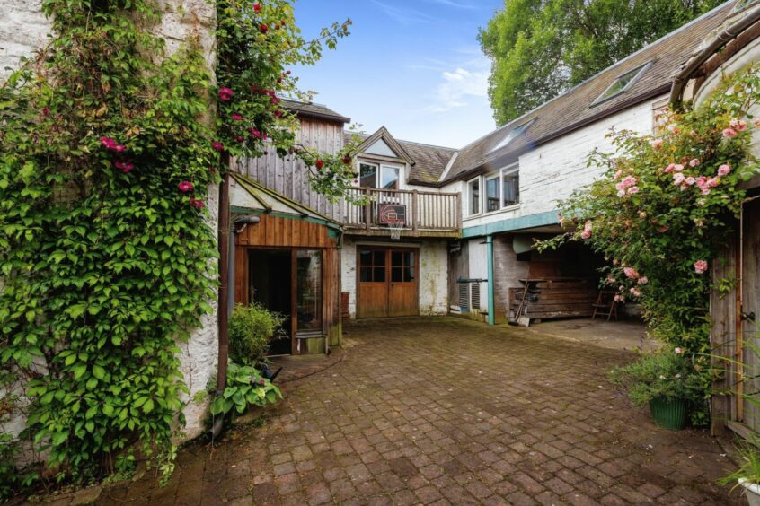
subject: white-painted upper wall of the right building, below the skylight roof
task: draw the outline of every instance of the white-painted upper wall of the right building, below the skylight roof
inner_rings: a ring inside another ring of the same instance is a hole
[[[642,102],[631,109],[542,144],[520,156],[520,204],[517,206],[489,214],[468,216],[466,182],[457,181],[446,185],[443,191],[463,192],[464,228],[554,211],[559,200],[567,198],[574,189],[586,186],[596,179],[600,170],[586,166],[588,154],[595,148],[612,151],[610,139],[606,138],[610,129],[614,127],[615,130],[650,133],[654,105],[664,98],[665,95]]]

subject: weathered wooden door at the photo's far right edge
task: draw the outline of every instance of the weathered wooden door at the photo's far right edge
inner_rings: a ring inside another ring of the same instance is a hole
[[[758,339],[757,318],[760,318],[760,201],[744,205],[744,240],[742,244],[741,273],[741,339],[742,353],[739,362],[744,362],[739,393],[752,396],[755,403],[760,400],[760,339]],[[737,418],[754,431],[760,432],[760,410],[756,404],[746,399],[738,402]]]

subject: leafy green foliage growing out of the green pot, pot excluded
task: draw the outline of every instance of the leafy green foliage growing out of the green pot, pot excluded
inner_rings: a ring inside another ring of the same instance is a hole
[[[611,371],[610,379],[627,391],[634,406],[646,406],[658,397],[703,403],[701,376],[681,348],[644,354]]]

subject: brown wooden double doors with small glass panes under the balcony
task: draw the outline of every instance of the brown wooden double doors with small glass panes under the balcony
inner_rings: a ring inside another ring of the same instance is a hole
[[[357,246],[357,318],[420,314],[420,250]]]

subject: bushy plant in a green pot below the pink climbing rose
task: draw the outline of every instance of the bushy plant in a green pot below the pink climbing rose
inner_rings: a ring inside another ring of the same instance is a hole
[[[624,388],[634,406],[650,406],[660,427],[680,431],[699,379],[681,348],[647,353],[611,372],[613,383]]]

